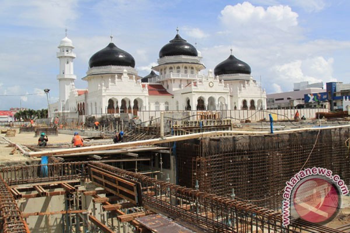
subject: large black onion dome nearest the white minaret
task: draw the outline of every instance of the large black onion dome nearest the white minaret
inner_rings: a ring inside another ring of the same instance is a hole
[[[135,67],[135,59],[130,53],[119,49],[112,42],[106,48],[93,54],[89,60],[89,67],[96,66],[131,66]]]

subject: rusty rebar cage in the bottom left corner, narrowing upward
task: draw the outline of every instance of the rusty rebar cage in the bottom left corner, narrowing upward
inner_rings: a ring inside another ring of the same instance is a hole
[[[0,176],[0,232],[30,233],[7,183]]]

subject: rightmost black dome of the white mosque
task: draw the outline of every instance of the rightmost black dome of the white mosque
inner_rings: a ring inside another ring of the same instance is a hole
[[[235,56],[230,57],[215,66],[214,74],[251,74],[252,70],[250,66],[244,61],[238,60]]]

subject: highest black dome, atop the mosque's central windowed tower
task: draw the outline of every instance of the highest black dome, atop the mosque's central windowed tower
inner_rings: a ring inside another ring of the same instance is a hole
[[[198,52],[193,45],[187,43],[186,40],[182,39],[179,34],[176,34],[174,39],[169,41],[169,43],[164,45],[163,48],[159,51],[159,58],[176,55],[197,57]]]

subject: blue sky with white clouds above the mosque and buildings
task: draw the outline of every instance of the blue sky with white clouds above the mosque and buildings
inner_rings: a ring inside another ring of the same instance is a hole
[[[86,88],[90,57],[110,42],[145,76],[179,34],[207,70],[233,55],[266,92],[300,81],[349,83],[350,1],[346,0],[0,0],[0,110],[47,108],[58,99],[58,44],[73,41],[76,88]],[[35,94],[27,96],[8,96]]]

